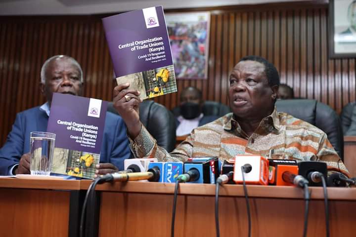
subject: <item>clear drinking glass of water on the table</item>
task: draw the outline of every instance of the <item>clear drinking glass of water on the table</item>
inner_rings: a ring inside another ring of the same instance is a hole
[[[53,159],[55,134],[50,132],[30,133],[30,171],[35,175],[49,175]]]

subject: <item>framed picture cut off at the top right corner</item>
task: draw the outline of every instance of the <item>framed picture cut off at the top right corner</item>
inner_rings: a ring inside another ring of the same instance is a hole
[[[329,57],[356,57],[356,0],[329,0]]]

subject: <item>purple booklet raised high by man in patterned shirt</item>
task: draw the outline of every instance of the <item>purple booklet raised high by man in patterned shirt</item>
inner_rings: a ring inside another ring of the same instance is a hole
[[[171,45],[162,6],[102,19],[118,84],[147,99],[177,92]]]

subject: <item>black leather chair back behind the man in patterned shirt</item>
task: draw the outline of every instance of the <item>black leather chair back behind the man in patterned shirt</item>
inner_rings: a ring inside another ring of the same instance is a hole
[[[344,136],[338,114],[316,100],[277,100],[277,111],[302,119],[323,130],[341,159],[344,159]]]

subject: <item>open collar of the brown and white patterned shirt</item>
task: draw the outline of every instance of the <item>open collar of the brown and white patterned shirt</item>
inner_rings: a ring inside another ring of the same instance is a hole
[[[241,127],[240,124],[236,121],[235,118],[233,118],[233,113],[229,113],[225,116],[223,122],[223,129],[226,131],[231,131],[231,130],[237,130],[239,133],[241,133]],[[278,112],[276,110],[276,107],[274,107],[274,110],[272,114],[268,115],[266,118],[263,118],[260,122],[259,127],[257,130],[267,130],[267,133],[271,132],[272,130],[275,130],[275,132],[278,132],[280,129],[280,121],[279,121],[279,116]]]

